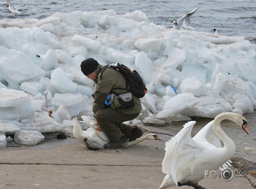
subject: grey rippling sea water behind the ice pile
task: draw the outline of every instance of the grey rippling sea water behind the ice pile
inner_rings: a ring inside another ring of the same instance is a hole
[[[194,31],[219,35],[243,36],[256,43],[256,1],[255,0],[12,0],[15,6],[26,5],[18,18],[45,19],[56,12],[104,11],[112,9],[117,14],[135,10],[143,11],[150,22],[172,28],[177,20],[199,7],[190,19]],[[0,19],[15,19],[5,1],[0,2]]]

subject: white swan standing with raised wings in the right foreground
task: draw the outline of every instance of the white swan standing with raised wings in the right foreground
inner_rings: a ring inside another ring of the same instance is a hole
[[[221,121],[225,119],[242,126],[242,129],[249,134],[246,119],[242,115],[235,113],[219,114],[213,120],[213,129],[224,143],[224,147],[220,148],[216,147],[218,142],[214,143],[214,135],[211,138],[207,134],[211,128],[208,124],[192,139],[191,130],[196,122],[189,121],[176,136],[165,143],[166,152],[162,171],[167,175],[159,189],[175,185],[189,185],[195,189],[204,189],[197,183],[204,179],[205,170],[217,170],[235,154],[235,143],[221,129]],[[210,131],[210,133],[212,132]]]

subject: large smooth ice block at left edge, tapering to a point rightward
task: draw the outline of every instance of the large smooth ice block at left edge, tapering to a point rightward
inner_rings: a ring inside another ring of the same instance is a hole
[[[10,49],[0,57],[0,75],[12,86],[43,78],[45,71],[35,65],[24,53]]]

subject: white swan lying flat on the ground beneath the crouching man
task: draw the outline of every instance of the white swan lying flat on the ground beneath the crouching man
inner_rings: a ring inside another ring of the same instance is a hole
[[[98,125],[96,125],[96,120],[90,116],[82,116],[83,122],[88,124],[90,128],[83,131],[81,125],[78,123],[77,118],[73,118],[73,135],[82,144],[85,144],[90,150],[98,150],[99,148],[104,148],[104,144],[109,143],[107,135],[102,131],[97,131]],[[150,133],[143,137],[140,137],[134,141],[128,142],[126,146],[133,144],[138,144],[143,140],[161,140],[157,135]]]

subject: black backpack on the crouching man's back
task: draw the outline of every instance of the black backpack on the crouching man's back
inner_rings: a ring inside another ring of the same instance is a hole
[[[143,80],[141,79],[139,73],[137,73],[136,70],[131,71],[125,65],[119,64],[119,63],[117,63],[117,66],[106,65],[106,66],[103,66],[101,70],[100,79],[102,79],[103,71],[106,68],[115,69],[117,71],[120,71],[124,75],[126,80],[126,86],[125,86],[125,89],[119,89],[119,90],[127,90],[137,98],[142,98],[147,93],[148,89],[146,88],[146,85],[143,83]],[[128,83],[130,84],[130,89],[128,89]]]

